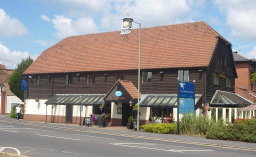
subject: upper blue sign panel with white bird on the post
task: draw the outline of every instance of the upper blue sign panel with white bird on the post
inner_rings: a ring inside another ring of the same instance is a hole
[[[180,98],[193,98],[194,99],[194,83],[179,81],[179,97]]]

